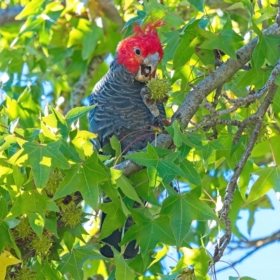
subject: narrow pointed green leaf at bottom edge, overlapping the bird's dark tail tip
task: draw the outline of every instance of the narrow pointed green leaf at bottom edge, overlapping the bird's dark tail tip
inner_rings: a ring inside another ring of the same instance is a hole
[[[116,280],[134,280],[136,275],[132,272],[132,269],[127,265],[123,255],[115,249],[112,248],[114,252],[114,260],[116,265]]]

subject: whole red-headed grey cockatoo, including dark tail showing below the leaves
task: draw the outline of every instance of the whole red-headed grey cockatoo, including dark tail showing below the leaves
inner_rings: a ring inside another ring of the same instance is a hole
[[[152,127],[163,126],[161,120],[165,118],[164,106],[153,104],[153,109],[158,108],[156,114],[153,114],[150,104],[144,103],[144,96],[145,100],[148,99],[148,92],[144,92],[145,82],[155,76],[158,63],[163,57],[160,38],[155,30],[161,25],[160,21],[143,27],[135,25],[134,36],[120,41],[109,71],[95,85],[90,104],[97,106],[90,112],[89,125],[90,131],[98,134],[97,138],[92,139],[97,151],[109,144],[113,135],[120,141],[124,153],[142,149],[155,137]],[[110,197],[104,194],[103,202],[110,201]],[[134,202],[134,207],[139,206],[138,202]],[[102,212],[101,220],[102,228],[106,213]],[[113,258],[111,248],[120,251],[123,232],[127,232],[133,224],[130,216],[123,228],[117,228],[102,239],[104,246],[100,248],[100,253],[107,258]],[[139,246],[136,246],[136,240],[133,240],[125,245],[123,256],[134,258],[138,252]]]

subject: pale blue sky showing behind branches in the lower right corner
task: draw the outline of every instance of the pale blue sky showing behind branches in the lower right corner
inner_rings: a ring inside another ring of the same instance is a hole
[[[237,222],[241,232],[248,239],[267,237],[280,229],[280,202],[276,199],[273,190],[268,193],[269,200],[274,209],[260,209],[255,214],[255,224],[248,235],[247,221],[248,211],[241,211],[241,219]],[[246,251],[236,251],[225,255],[222,260],[233,262],[244,255]],[[216,269],[224,267],[225,263],[218,263]],[[280,242],[274,242],[259,249],[240,264],[235,265],[240,276],[250,276],[256,280],[279,280],[280,279]],[[217,280],[227,280],[229,276],[238,276],[234,269],[226,269],[217,274]]]

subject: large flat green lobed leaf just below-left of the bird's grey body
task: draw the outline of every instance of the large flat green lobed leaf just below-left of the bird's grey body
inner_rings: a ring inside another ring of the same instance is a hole
[[[93,209],[98,208],[98,183],[109,179],[109,172],[93,153],[85,162],[73,165],[65,171],[66,176],[59,184],[53,200],[80,191],[83,199]]]

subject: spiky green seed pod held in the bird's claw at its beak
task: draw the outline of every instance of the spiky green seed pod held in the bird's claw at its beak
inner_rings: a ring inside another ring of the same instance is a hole
[[[158,75],[148,80],[146,87],[151,93],[151,99],[155,102],[165,102],[168,98],[167,93],[172,90],[172,87],[169,86],[169,80],[167,78],[160,79]]]

